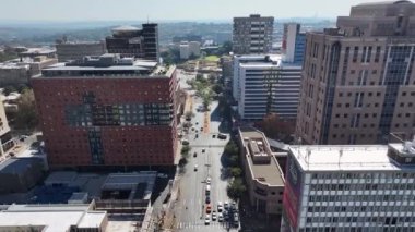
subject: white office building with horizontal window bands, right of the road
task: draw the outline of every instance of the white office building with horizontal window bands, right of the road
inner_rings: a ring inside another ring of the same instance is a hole
[[[262,120],[268,113],[295,119],[301,66],[284,63],[281,56],[235,56],[233,96],[244,120]]]

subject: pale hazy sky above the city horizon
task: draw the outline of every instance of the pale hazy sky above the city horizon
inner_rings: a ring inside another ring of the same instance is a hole
[[[0,21],[232,20],[250,13],[275,17],[335,17],[378,0],[0,0]]]

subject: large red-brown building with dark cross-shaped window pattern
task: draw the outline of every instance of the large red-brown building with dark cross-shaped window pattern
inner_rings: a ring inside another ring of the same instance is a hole
[[[174,164],[174,66],[104,54],[44,69],[32,84],[52,168]]]

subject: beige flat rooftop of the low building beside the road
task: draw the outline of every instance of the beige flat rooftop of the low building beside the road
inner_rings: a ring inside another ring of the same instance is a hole
[[[246,156],[252,176],[264,184],[284,185],[282,170],[271,154],[270,145],[263,133],[251,127],[240,127],[239,134],[244,141],[244,147],[247,149]],[[258,162],[253,156],[259,158]]]

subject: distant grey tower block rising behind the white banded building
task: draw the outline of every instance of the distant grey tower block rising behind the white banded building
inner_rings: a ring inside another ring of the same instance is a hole
[[[236,54],[269,53],[272,49],[274,17],[234,17],[233,51]]]

